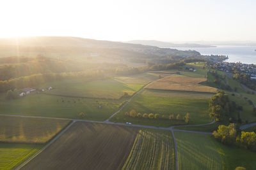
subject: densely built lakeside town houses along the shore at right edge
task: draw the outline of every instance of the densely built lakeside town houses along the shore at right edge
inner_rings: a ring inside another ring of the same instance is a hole
[[[232,69],[236,68],[239,71],[251,76],[256,77],[256,65],[255,64],[243,64],[241,62],[209,62],[208,66],[218,69],[219,71],[225,71],[227,73],[232,72]]]

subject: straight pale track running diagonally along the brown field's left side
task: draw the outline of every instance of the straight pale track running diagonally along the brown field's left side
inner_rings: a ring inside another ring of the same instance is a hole
[[[63,129],[59,134],[57,134],[51,141],[49,141],[49,143],[47,143],[47,145],[44,146],[44,148],[40,149],[38,152],[36,152],[34,155],[32,155],[31,157],[29,157],[29,159],[27,159],[25,162],[23,162],[20,166],[18,166],[16,169],[20,169],[23,166],[25,166],[26,164],[28,164],[28,162],[32,159],[34,159],[37,155],[39,155],[41,152],[43,152],[46,148],[48,148],[52,143],[54,143],[54,141],[56,141],[56,139],[58,139],[64,132],[66,132],[76,121],[73,120],[67,127],[65,127],[65,129]]]

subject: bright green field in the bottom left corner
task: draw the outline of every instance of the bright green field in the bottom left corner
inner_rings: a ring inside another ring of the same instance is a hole
[[[0,169],[14,169],[42,147],[42,145],[0,143]]]

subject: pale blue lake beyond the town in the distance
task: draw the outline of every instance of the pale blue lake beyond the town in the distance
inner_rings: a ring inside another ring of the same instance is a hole
[[[228,55],[227,62],[242,62],[246,64],[256,64],[256,46],[237,45],[216,45],[217,47],[207,48],[176,48],[178,50],[196,50],[202,55]]]

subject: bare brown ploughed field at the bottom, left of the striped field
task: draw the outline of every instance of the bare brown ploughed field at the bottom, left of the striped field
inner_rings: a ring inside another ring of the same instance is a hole
[[[76,122],[22,169],[121,169],[138,130]]]

